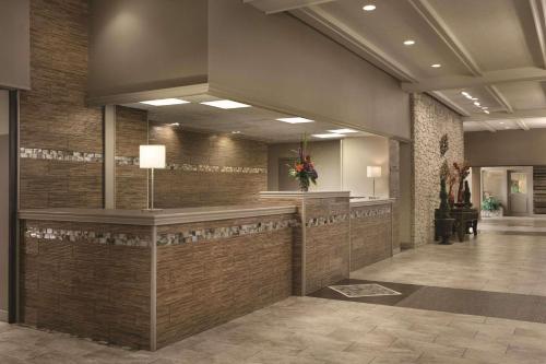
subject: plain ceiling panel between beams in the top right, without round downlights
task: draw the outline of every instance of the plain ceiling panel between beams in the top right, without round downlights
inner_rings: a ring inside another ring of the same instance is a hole
[[[428,1],[482,71],[542,64],[529,1]]]

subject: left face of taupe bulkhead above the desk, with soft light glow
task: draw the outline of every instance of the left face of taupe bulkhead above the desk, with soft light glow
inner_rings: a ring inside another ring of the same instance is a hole
[[[207,1],[91,3],[91,96],[206,82]]]

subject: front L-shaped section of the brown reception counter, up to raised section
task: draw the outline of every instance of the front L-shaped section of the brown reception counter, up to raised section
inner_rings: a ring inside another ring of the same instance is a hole
[[[21,211],[24,324],[155,350],[292,293],[295,207]]]

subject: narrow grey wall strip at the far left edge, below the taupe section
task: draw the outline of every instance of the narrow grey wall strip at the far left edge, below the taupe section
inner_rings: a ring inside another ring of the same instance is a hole
[[[9,95],[0,90],[0,320],[8,310],[9,247]]]

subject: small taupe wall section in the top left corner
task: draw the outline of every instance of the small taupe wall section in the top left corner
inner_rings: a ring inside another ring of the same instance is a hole
[[[0,87],[31,87],[29,0],[0,0]]]

